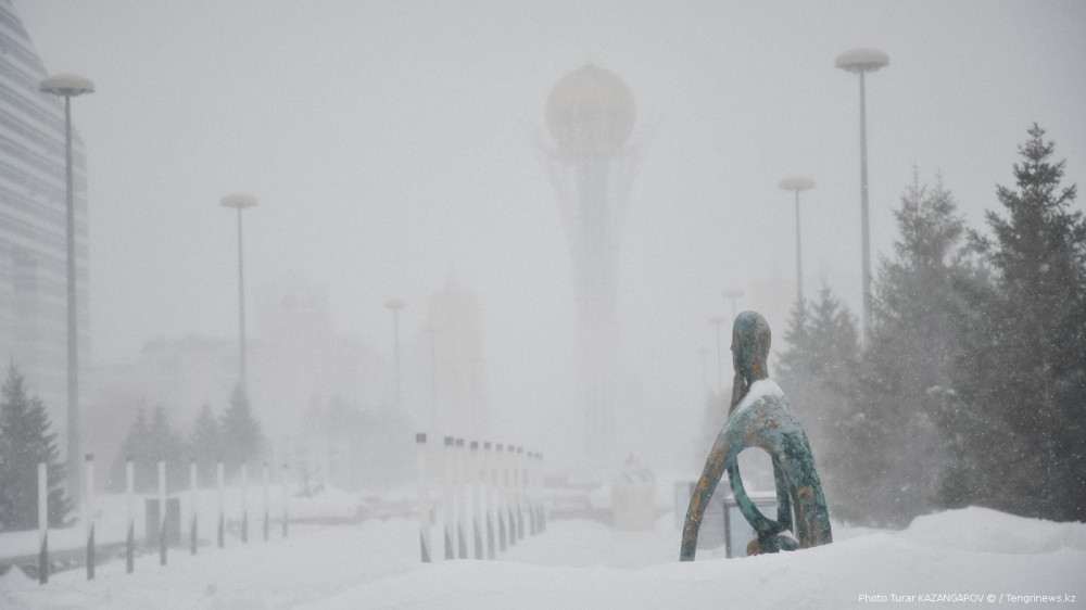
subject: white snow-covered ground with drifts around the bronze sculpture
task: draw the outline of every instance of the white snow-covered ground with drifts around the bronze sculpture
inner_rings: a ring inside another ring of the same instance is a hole
[[[195,556],[172,549],[166,567],[156,554],[143,555],[134,574],[125,573],[123,559],[112,560],[93,581],[77,569],[39,585],[13,569],[0,577],[0,607],[1086,606],[1086,524],[982,508],[922,517],[900,532],[837,524],[829,546],[743,559],[702,552],[692,563],[677,560],[673,513],[646,532],[552,520],[496,561],[429,564],[419,561],[415,520],[298,525],[287,538],[273,532],[268,542],[260,534],[245,545],[231,537],[226,548],[204,546]]]

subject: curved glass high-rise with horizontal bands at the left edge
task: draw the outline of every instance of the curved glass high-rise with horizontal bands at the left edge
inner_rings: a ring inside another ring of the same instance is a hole
[[[64,100],[11,0],[0,0],[0,359],[63,429],[67,395]],[[87,157],[73,126],[76,302],[80,370],[88,354]]]

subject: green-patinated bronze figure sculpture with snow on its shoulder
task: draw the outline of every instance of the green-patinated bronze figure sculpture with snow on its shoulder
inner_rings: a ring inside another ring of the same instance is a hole
[[[771,333],[769,323],[756,312],[735,318],[732,330],[732,364],[735,379],[728,421],[717,435],[702,478],[686,510],[680,561],[693,561],[697,532],[705,508],[721,475],[728,481],[743,517],[757,532],[747,546],[749,555],[795,550],[829,544],[830,514],[822,495],[822,484],[815,469],[810,444],[803,427],[790,410],[788,399],[768,381],[767,358]],[[758,387],[766,380],[765,387]],[[752,395],[752,389],[755,393]],[[768,391],[766,391],[768,390]],[[750,397],[744,403],[744,399]],[[742,405],[743,408],[737,408]],[[750,501],[740,475],[738,455],[747,447],[759,447],[773,463],[776,486],[776,519],[761,513]],[[795,510],[795,523],[793,523]],[[787,534],[791,532],[795,537]]]

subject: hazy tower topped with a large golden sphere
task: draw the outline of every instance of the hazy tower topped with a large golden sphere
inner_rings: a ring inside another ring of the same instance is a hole
[[[615,463],[618,249],[633,174],[628,144],[633,96],[610,72],[586,65],[551,90],[545,147],[573,263],[577,298],[577,401],[588,467]]]

